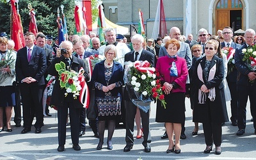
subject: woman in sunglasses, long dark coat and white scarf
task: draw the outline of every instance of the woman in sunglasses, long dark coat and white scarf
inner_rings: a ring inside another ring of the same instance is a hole
[[[225,93],[223,85],[224,65],[219,58],[218,44],[209,40],[205,45],[205,56],[196,61],[193,72],[195,89],[195,104],[193,122],[203,124],[206,148],[205,154],[212,150],[214,143],[215,154],[221,154],[221,124],[228,122],[227,108],[224,106]]]

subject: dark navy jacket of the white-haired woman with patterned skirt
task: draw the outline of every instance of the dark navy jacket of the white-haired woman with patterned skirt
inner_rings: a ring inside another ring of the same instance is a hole
[[[92,82],[98,82],[98,83],[103,84],[104,86],[107,86],[108,84],[116,83],[118,81],[121,81],[122,84],[124,84],[123,67],[122,67],[121,63],[118,63],[117,61],[114,61],[112,76],[111,76],[111,79],[109,80],[109,83],[107,84],[107,81],[105,78],[104,61],[100,61],[99,63],[97,63],[95,65],[95,67],[93,69],[93,73],[92,73]],[[93,85],[95,85],[95,84],[93,83]],[[111,92],[112,96],[120,96],[122,93],[122,86],[115,87],[110,92]],[[105,92],[95,88],[95,97],[105,97]]]

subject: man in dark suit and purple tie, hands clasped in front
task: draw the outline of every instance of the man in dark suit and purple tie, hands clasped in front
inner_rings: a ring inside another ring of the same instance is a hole
[[[27,32],[24,36],[26,47],[17,52],[15,70],[20,84],[22,98],[24,129],[22,134],[31,131],[36,116],[35,133],[42,132],[44,121],[42,97],[44,90],[44,73],[47,68],[45,51],[34,45],[35,35]]]

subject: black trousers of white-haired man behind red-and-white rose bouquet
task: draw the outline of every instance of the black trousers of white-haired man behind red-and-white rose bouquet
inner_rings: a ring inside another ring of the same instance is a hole
[[[134,132],[134,118],[136,115],[137,107],[131,102],[131,100],[126,100],[126,134],[125,141],[127,145],[134,145],[133,132]],[[152,139],[150,136],[149,127],[149,111],[145,113],[140,109],[141,123],[143,126],[143,142],[142,145],[146,147],[151,143]]]

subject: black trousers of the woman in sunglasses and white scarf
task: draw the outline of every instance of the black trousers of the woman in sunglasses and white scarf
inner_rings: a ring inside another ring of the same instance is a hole
[[[212,145],[212,142],[214,142],[214,145],[216,147],[219,147],[221,145],[221,134],[222,134],[222,128],[221,124],[215,124],[215,123],[203,123],[204,128],[204,138],[205,138],[205,144],[206,145]]]

